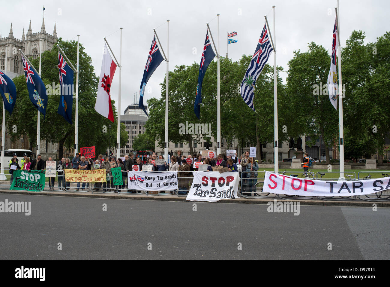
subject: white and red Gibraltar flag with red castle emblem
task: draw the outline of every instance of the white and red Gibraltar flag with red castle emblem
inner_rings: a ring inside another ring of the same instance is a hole
[[[99,78],[99,87],[97,87],[95,110],[103,117],[114,122],[114,114],[111,105],[111,82],[114,77],[117,65],[110,54],[107,52],[107,46],[104,45],[103,63]]]

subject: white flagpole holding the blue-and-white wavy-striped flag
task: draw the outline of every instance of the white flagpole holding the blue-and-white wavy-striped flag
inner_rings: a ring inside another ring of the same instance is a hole
[[[273,9],[273,122],[274,122],[274,171],[275,173],[279,172],[279,143],[278,143],[278,91],[277,91],[277,71],[276,71],[276,32],[275,32],[275,6],[272,6]]]

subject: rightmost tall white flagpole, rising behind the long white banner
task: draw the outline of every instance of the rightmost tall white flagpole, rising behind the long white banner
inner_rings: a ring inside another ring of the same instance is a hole
[[[339,38],[339,137],[340,137],[340,178],[344,177],[344,123],[343,123],[343,112],[342,112],[342,82],[341,82],[341,41],[340,41],[340,21],[339,15],[337,11],[340,11],[339,8],[339,0],[337,0],[337,9],[336,9],[336,17],[337,17],[337,37]]]

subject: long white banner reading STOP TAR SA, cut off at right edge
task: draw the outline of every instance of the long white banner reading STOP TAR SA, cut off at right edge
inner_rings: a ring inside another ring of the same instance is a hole
[[[358,196],[389,188],[390,177],[368,180],[312,180],[266,171],[263,192],[305,196]]]

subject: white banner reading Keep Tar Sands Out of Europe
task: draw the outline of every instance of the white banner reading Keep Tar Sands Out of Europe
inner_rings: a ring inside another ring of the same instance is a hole
[[[166,171],[164,173],[129,171],[128,188],[145,191],[177,189],[177,171]]]

